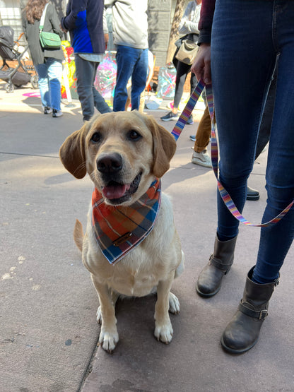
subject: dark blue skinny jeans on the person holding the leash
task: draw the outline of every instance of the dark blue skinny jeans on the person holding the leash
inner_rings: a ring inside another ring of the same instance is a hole
[[[293,20],[294,1],[216,0],[211,74],[220,147],[219,176],[240,212],[245,204],[247,178],[254,163],[261,117],[279,54],[266,167],[268,198],[262,222],[281,213],[294,198]],[[235,237],[238,225],[218,194],[220,241]],[[261,227],[253,275],[257,283],[278,278],[293,237],[294,208],[275,225]]]

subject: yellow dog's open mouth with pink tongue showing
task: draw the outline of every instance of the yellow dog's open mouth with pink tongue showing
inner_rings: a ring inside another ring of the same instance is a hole
[[[106,186],[102,187],[102,194],[108,200],[111,200],[112,203],[115,201],[116,203],[122,203],[134,194],[138,189],[138,186],[141,181],[142,173],[136,175],[133,182],[130,184],[119,184],[116,181],[110,181]]]

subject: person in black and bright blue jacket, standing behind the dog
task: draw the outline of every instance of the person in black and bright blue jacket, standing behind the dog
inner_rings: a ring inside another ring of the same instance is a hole
[[[100,113],[111,112],[104,98],[95,89],[95,75],[105,52],[107,30],[103,30],[103,0],[69,0],[61,28],[69,31],[76,64],[76,85],[83,121]]]

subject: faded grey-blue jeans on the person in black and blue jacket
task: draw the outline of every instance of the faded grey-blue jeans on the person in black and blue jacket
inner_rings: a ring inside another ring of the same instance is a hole
[[[94,115],[94,108],[100,113],[111,112],[105,99],[95,89],[94,82],[99,63],[82,59],[75,54],[76,90],[81,102],[83,121],[90,120]]]

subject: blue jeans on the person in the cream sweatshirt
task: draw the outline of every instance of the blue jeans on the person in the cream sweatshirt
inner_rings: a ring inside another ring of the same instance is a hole
[[[140,95],[146,87],[148,49],[117,45],[117,84],[114,90],[113,111],[123,111],[127,102],[127,83],[131,78],[131,109],[138,110]]]

